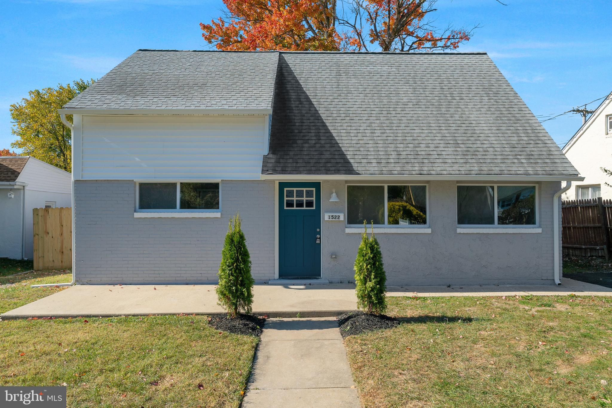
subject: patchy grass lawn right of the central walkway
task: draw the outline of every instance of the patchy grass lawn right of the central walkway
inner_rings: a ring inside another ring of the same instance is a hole
[[[612,407],[608,297],[390,297],[345,340],[366,407]]]

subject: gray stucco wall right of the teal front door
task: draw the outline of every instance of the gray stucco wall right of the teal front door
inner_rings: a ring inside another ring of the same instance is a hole
[[[352,182],[351,182],[352,183]],[[380,182],[385,184],[384,181]],[[431,233],[378,233],[388,285],[507,285],[553,283],[552,197],[559,182],[539,183],[542,233],[457,233],[457,183],[429,183]],[[324,181],[323,212],[345,211],[345,181]],[[368,183],[375,184],[375,183]],[[387,182],[386,184],[397,184]],[[504,183],[496,183],[504,184]],[[335,189],[340,202],[331,203]],[[359,233],[323,221],[323,277],[353,281]],[[335,253],[335,259],[330,255]]]

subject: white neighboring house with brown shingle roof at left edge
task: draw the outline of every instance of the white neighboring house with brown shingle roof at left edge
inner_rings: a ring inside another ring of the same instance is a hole
[[[30,156],[0,157],[0,258],[34,257],[32,208],[72,206],[69,172]]]

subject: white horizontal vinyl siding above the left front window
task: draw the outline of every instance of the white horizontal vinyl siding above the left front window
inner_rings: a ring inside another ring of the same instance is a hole
[[[267,121],[267,115],[83,115],[80,178],[258,180]]]

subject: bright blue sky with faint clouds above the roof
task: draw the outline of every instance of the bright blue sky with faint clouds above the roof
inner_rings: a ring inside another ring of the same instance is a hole
[[[611,1],[504,2],[439,0],[436,24],[480,24],[460,51],[487,51],[536,115],[612,91]],[[222,7],[220,0],[2,0],[0,149],[14,140],[9,106],[29,90],[100,78],[138,48],[209,49],[199,23]],[[543,123],[559,144],[580,124],[571,114]]]

